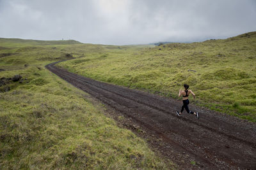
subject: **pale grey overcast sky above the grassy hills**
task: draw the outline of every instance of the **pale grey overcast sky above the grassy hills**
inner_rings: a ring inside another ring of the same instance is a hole
[[[112,45],[256,31],[256,0],[0,0],[0,37]]]

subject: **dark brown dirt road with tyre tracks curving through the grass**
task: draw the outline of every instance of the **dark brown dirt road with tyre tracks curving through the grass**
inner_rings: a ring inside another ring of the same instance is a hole
[[[140,133],[178,169],[256,169],[255,124],[193,105],[199,120],[185,112],[177,117],[181,101],[85,78],[56,63],[45,67],[108,104],[116,120],[123,115],[125,127]]]

